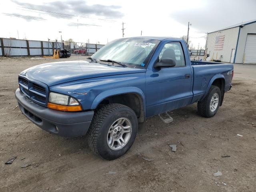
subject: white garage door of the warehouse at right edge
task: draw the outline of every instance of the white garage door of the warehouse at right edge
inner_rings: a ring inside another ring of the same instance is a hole
[[[256,63],[256,34],[248,34],[244,50],[244,63]]]

